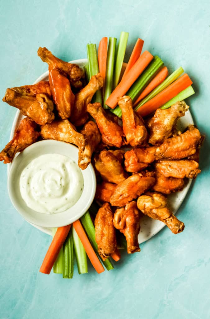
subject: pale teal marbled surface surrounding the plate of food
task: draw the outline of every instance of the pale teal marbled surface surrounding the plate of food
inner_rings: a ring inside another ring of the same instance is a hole
[[[6,165],[0,163],[0,317],[42,318],[210,318],[209,215],[209,2],[197,1],[0,1],[0,96],[7,87],[32,84],[47,70],[37,56],[46,46],[69,61],[86,57],[86,44],[102,36],[130,32],[127,57],[137,37],[169,70],[180,65],[196,94],[190,110],[207,138],[202,173],[192,183],[178,216],[185,231],[168,228],[124,254],[113,271],[73,279],[39,273],[50,236],[24,221],[7,192]],[[16,112],[2,101],[0,147],[9,141]]]

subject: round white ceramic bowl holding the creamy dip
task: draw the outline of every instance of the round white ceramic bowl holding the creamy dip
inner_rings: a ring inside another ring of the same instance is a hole
[[[80,170],[83,175],[83,191],[76,204],[59,213],[40,213],[29,208],[20,193],[20,176],[24,168],[37,157],[44,154],[61,154],[77,163],[78,148],[75,145],[55,141],[43,140],[28,146],[11,164],[8,176],[8,191],[12,204],[20,215],[28,222],[42,227],[66,226],[79,219],[90,207],[96,192],[96,175],[91,164]]]

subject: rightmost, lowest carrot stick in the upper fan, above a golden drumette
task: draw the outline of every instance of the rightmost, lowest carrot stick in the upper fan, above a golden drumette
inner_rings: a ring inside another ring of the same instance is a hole
[[[185,73],[175,82],[170,84],[166,89],[157,94],[153,99],[143,104],[140,108],[138,108],[137,106],[135,110],[141,116],[149,115],[150,113],[154,112],[157,108],[160,108],[170,99],[175,97],[178,93],[185,90],[191,84],[192,80],[189,78],[188,74]]]

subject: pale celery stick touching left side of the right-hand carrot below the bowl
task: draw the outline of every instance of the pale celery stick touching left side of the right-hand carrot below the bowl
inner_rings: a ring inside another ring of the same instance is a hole
[[[72,226],[73,246],[76,256],[77,269],[79,274],[85,274],[88,272],[87,255],[76,230]]]

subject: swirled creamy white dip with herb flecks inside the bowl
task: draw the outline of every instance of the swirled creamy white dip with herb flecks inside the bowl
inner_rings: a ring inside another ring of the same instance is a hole
[[[60,154],[33,159],[20,176],[20,193],[28,207],[40,213],[59,213],[72,207],[83,191],[78,165]]]

